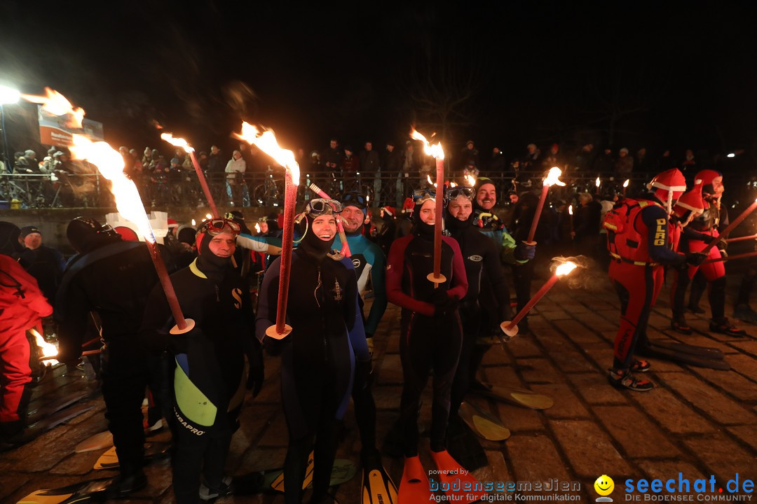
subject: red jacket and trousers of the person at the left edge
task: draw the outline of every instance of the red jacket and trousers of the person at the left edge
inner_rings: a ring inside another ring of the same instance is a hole
[[[42,333],[42,317],[51,314],[34,277],[13,258],[0,255],[0,449],[20,440],[31,395],[26,331]]]

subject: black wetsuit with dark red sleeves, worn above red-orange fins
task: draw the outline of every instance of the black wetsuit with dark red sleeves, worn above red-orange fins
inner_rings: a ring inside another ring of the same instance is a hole
[[[404,385],[400,425],[405,456],[418,453],[417,416],[431,369],[431,450],[444,450],[450,391],[463,341],[456,309],[456,301],[464,298],[468,290],[463,256],[455,240],[442,237],[441,274],[447,281],[435,289],[426,278],[433,271],[433,236],[433,227],[416,224],[413,233],[394,241],[387,261],[387,297],[402,307],[400,358]]]

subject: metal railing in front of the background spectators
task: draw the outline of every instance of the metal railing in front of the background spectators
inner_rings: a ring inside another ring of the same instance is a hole
[[[406,174],[403,172],[379,172],[378,174],[352,173],[343,175],[333,172],[302,172],[298,188],[298,201],[313,198],[307,190],[310,183],[315,183],[332,198],[338,199],[347,191],[357,190],[368,196],[370,206],[401,206],[404,199],[413,190],[428,187],[427,172]],[[456,173],[454,175],[457,175]],[[541,174],[534,172],[530,178],[531,187],[540,187]],[[504,199],[513,190],[512,172],[487,174],[497,184],[498,199]],[[601,184],[613,184],[621,187],[626,178],[630,179],[628,193],[637,193],[650,175],[632,173],[618,175],[615,173],[590,173],[565,175],[562,180],[568,185],[555,187],[556,193],[569,199],[580,190],[593,192],[597,176]],[[195,172],[174,172],[164,175],[144,173],[133,178],[145,206],[205,206],[204,194]],[[462,183],[462,174],[450,178]],[[284,202],[284,178],[280,169],[268,169],[266,172],[247,172],[228,175],[226,173],[207,174],[208,186],[216,203],[220,206],[282,206]],[[12,206],[29,209],[40,208],[113,208],[114,200],[109,190],[110,183],[98,174],[73,175],[58,172],[43,174],[0,174],[0,200]],[[519,184],[518,190],[526,190]]]

